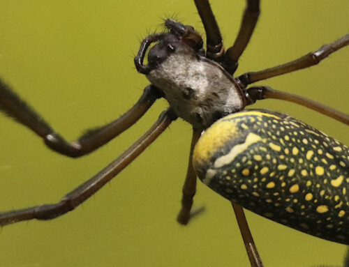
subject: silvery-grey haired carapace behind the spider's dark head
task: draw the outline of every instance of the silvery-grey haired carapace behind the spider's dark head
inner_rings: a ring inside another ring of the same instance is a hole
[[[170,106],[197,128],[207,128],[217,114],[244,108],[242,91],[217,63],[184,49],[168,56],[147,78],[165,93]]]

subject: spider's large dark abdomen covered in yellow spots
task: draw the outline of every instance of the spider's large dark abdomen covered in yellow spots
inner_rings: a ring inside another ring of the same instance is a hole
[[[290,116],[245,110],[195,146],[201,181],[226,199],[307,234],[349,244],[349,149]]]

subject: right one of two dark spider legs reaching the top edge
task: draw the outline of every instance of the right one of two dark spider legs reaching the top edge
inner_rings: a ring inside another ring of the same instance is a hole
[[[247,6],[242,17],[242,24],[235,39],[234,45],[229,47],[224,54],[222,66],[231,75],[237,70],[239,57],[246,49],[248,42],[251,39],[255,25],[258,22],[260,15],[260,0],[247,0]]]

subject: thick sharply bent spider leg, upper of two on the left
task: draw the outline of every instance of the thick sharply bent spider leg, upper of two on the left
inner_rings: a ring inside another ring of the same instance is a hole
[[[77,158],[103,146],[121,132],[127,130],[154,104],[161,93],[155,86],[147,86],[138,102],[119,119],[87,132],[74,142],[66,142],[51,126],[24,102],[10,87],[0,79],[0,112],[5,112],[15,121],[26,125],[45,144],[54,151]]]

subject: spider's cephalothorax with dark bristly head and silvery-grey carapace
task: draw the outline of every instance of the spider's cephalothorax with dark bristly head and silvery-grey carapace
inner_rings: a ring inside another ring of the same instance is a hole
[[[147,66],[137,64],[144,58],[144,49],[135,62],[151,84],[165,93],[177,116],[205,129],[244,109],[247,100],[242,89],[224,68],[205,57],[199,33],[173,20],[165,25],[170,32],[156,35],[158,43],[149,49]]]

